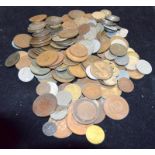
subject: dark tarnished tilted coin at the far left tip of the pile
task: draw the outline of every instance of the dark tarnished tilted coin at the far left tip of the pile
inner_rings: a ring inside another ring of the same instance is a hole
[[[9,57],[5,60],[6,67],[14,66],[20,59],[20,55],[18,52],[12,53]]]

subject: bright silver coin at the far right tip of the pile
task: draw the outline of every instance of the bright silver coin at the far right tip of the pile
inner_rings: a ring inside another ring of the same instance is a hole
[[[151,64],[146,60],[139,60],[136,65],[138,71],[142,74],[150,74],[152,72]]]

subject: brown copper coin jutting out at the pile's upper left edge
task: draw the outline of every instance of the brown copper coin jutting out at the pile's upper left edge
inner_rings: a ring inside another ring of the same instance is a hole
[[[20,48],[28,48],[32,37],[28,34],[18,34],[13,38],[13,42]]]

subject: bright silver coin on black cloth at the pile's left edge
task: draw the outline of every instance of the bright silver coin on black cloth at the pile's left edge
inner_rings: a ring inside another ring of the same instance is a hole
[[[34,75],[32,74],[32,72],[31,72],[29,67],[24,67],[24,68],[19,70],[18,78],[22,82],[30,82],[31,80],[33,80]]]

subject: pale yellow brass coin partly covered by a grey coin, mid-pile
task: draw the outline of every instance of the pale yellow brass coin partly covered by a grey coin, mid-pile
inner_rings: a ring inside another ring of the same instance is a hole
[[[71,93],[72,100],[77,100],[81,96],[81,88],[77,84],[69,84],[64,90]]]

